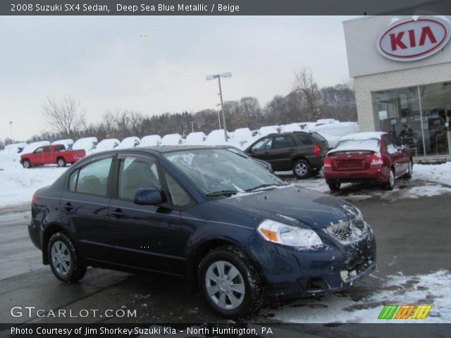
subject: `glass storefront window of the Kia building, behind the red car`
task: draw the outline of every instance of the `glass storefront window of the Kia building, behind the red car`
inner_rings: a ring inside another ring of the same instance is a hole
[[[371,95],[376,130],[402,137],[415,156],[451,154],[451,82]]]

